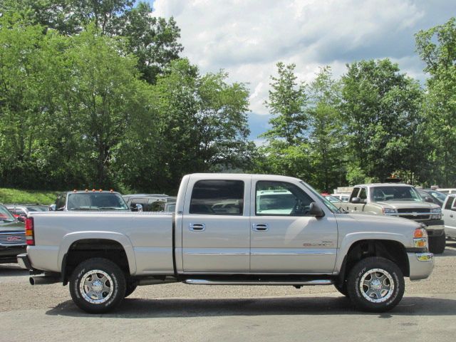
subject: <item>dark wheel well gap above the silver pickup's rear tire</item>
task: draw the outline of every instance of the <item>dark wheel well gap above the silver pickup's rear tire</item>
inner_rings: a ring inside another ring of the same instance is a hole
[[[124,271],[125,276],[130,275],[127,254],[119,242],[110,239],[82,239],[73,242],[63,258],[63,285],[68,283],[68,278],[78,264],[92,258],[109,259]]]

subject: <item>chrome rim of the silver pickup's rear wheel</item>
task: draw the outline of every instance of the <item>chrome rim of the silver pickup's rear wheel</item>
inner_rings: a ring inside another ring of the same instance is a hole
[[[105,271],[92,269],[81,278],[79,291],[92,304],[103,304],[113,295],[113,279]]]

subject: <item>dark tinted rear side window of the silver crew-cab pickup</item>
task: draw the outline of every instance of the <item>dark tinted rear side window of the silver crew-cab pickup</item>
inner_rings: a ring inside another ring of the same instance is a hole
[[[240,180],[199,180],[190,200],[190,214],[242,215],[244,182]]]

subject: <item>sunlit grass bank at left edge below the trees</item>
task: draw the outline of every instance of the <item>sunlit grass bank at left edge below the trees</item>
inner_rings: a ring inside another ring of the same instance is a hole
[[[0,187],[0,203],[39,203],[53,204],[60,191],[17,190]]]

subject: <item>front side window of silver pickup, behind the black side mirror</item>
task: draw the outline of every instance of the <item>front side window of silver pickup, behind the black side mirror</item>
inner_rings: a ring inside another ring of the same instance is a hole
[[[255,214],[279,216],[306,216],[311,202],[309,195],[287,182],[257,182]]]

